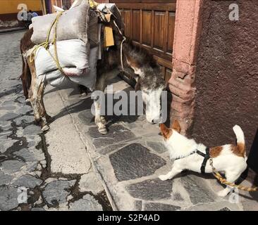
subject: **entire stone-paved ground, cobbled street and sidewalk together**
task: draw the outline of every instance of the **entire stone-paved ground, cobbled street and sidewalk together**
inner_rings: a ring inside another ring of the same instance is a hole
[[[23,34],[0,35],[0,210],[258,210],[258,195],[219,198],[210,174],[159,180],[172,162],[158,125],[109,116],[109,133],[99,134],[90,96],[76,88],[47,86],[53,121],[42,132],[18,79]],[[131,89],[120,79],[114,87]]]

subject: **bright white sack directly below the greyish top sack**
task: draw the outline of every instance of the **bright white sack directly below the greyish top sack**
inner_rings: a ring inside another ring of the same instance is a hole
[[[59,63],[67,75],[81,75],[89,67],[87,61],[86,44],[79,39],[56,41]],[[54,55],[54,45],[49,46],[49,51]],[[35,68],[37,76],[57,70],[54,59],[44,47],[39,47],[35,54]]]

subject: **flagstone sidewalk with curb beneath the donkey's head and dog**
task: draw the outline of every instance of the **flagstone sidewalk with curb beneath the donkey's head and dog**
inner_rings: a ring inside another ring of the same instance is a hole
[[[114,91],[131,90],[120,79],[113,83]],[[90,96],[81,97],[76,88],[58,94],[87,146],[92,169],[102,181],[113,210],[258,210],[258,196],[254,194],[240,192],[236,200],[235,195],[219,198],[216,192],[223,187],[209,174],[184,172],[173,181],[159,180],[160,174],[171,169],[172,162],[159,127],[147,123],[145,116],[109,116],[109,133],[102,135],[90,113]],[[59,113],[56,120],[62,120],[65,112]],[[60,160],[61,155],[58,157]],[[250,186],[247,182],[245,185]]]

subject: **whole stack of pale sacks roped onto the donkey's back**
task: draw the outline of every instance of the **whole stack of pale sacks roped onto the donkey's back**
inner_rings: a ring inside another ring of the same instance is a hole
[[[36,46],[30,58],[35,60],[37,76],[44,76],[52,86],[69,86],[75,82],[94,89],[97,60],[104,46],[99,12],[113,14],[122,27],[115,4],[95,3],[91,8],[85,0],[68,11],[32,18],[31,41]]]

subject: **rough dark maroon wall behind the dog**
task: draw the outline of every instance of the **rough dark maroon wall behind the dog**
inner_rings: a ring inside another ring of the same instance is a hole
[[[258,1],[204,1],[195,77],[192,136],[208,146],[234,143],[245,133],[247,152],[258,127]],[[228,6],[240,18],[228,18]]]

